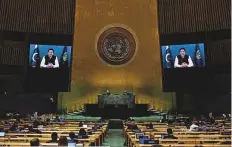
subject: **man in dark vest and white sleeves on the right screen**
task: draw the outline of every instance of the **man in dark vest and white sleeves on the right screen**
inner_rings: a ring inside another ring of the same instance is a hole
[[[176,56],[174,67],[175,68],[193,67],[193,61],[189,55],[186,55],[185,48],[180,49],[180,55]]]

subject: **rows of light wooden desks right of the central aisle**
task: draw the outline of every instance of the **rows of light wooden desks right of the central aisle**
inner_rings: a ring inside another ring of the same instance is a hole
[[[172,126],[169,127],[168,124],[155,123],[153,126],[155,129],[146,129],[145,125],[147,122],[135,123],[138,128],[146,136],[153,135],[155,140],[159,140],[160,145],[164,147],[194,147],[196,145],[201,145],[205,147],[230,147],[231,145],[224,144],[225,142],[231,142],[231,135],[219,134],[219,131],[212,132],[189,132],[185,126]],[[167,128],[173,129],[173,135],[178,137],[178,139],[162,139],[161,135],[166,134]],[[228,131],[228,130],[227,130]],[[127,140],[128,147],[152,147],[151,144],[140,144],[139,139],[136,139],[135,132],[128,130],[127,126],[124,124],[124,135]]]

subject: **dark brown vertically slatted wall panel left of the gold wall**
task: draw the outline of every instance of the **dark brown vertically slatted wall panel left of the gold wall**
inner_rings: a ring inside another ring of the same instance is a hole
[[[75,0],[1,0],[0,30],[72,34]]]

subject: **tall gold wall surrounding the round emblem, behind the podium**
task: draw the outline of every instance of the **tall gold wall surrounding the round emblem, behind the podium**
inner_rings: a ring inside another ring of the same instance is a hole
[[[156,0],[77,0],[71,92],[59,94],[60,109],[83,108],[97,103],[97,95],[109,89],[136,93],[136,103],[171,110],[170,93],[162,92],[162,73]],[[102,62],[97,36],[109,26],[124,27],[135,37],[136,55],[115,67]]]

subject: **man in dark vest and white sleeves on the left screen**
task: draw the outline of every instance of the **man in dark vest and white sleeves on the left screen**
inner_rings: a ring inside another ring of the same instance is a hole
[[[44,56],[40,67],[42,68],[59,68],[57,56],[54,56],[54,49],[48,49],[48,55]]]

